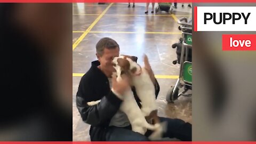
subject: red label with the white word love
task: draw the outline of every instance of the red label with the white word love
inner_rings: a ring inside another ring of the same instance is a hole
[[[222,35],[222,51],[256,51],[256,35]]]

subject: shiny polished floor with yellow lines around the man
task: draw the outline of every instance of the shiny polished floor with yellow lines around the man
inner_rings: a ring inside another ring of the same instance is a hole
[[[145,3],[135,3],[134,8],[126,3],[73,4],[73,141],[90,141],[90,125],[79,116],[75,99],[81,76],[90,68],[91,61],[97,59],[95,44],[102,37],[115,39],[121,47],[120,53],[137,56],[141,65],[142,55],[147,54],[159,77],[158,115],[192,122],[191,98],[180,97],[174,103],[165,100],[167,91],[177,81],[174,77],[179,75],[179,65],[172,63],[177,56],[171,47],[181,37],[177,19],[191,17],[192,9],[187,4],[182,8],[178,3],[173,14],[152,14],[150,4],[149,13],[145,14],[145,7]]]

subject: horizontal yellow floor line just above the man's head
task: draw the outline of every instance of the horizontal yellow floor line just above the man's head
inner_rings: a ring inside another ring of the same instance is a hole
[[[84,31],[73,31],[73,33],[84,33]],[[180,32],[133,32],[133,31],[89,31],[88,33],[114,33],[114,34],[181,34]]]

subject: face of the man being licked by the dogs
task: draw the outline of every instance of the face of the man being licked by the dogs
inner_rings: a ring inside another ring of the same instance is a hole
[[[101,69],[104,69],[108,72],[114,72],[115,68],[113,67],[112,60],[115,57],[119,57],[119,48],[116,47],[115,49],[104,49],[103,55],[100,56],[97,54],[97,58],[100,61]]]

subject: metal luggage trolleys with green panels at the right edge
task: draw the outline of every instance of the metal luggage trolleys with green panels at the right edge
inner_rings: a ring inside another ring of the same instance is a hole
[[[180,95],[185,97],[191,97],[191,93],[187,93],[188,90],[192,90],[192,19],[182,17],[178,20],[179,30],[181,30],[182,38],[180,42],[173,44],[172,47],[177,47],[177,58],[173,64],[180,63],[180,74],[177,82],[167,92],[166,101],[173,102],[177,100]],[[182,80],[182,81],[181,81]],[[179,93],[179,89],[184,87],[184,90]]]

